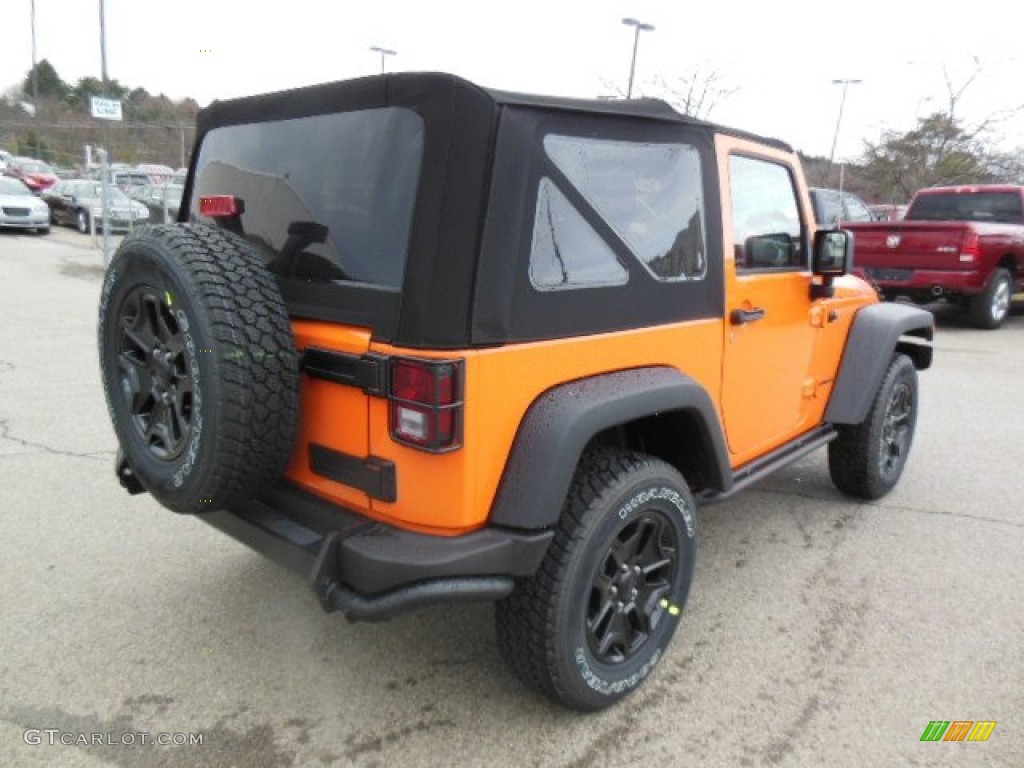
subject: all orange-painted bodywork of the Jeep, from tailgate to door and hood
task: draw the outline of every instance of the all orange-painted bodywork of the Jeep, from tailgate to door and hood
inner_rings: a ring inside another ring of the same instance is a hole
[[[394,525],[438,536],[473,530],[487,522],[516,432],[541,394],[575,379],[647,366],[674,367],[707,389],[721,415],[733,467],[817,426],[853,315],[877,298],[854,278],[839,281],[833,298],[812,300],[809,270],[737,273],[729,153],[792,168],[808,222],[811,207],[793,155],[733,136],[720,135],[717,141],[726,317],[733,309],[763,307],[764,319],[734,326],[715,318],[464,351],[397,348],[373,343],[361,329],[297,321],[300,349],[462,359],[463,441],[446,454],[402,445],[391,438],[386,398],[302,377],[299,437],[288,476],[325,499]],[[310,442],[394,462],[397,500],[372,500],[312,472]]]

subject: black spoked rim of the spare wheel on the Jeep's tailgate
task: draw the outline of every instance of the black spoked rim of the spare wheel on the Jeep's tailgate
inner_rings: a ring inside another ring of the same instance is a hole
[[[139,438],[154,457],[172,461],[191,432],[193,371],[184,330],[161,294],[138,286],[122,302],[118,369]]]

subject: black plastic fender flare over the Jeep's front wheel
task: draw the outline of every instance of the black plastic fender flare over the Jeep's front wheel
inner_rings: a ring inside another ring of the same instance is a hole
[[[918,307],[883,303],[857,312],[825,409],[825,421],[860,424],[867,416],[892,355],[906,354],[918,370],[930,368],[934,334],[935,318]]]

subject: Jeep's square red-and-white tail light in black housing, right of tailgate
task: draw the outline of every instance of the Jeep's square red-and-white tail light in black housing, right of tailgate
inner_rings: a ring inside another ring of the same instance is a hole
[[[462,445],[462,361],[395,357],[388,387],[391,437],[445,453]]]

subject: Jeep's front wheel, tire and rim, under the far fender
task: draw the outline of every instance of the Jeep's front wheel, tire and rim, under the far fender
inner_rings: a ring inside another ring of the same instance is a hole
[[[841,425],[828,443],[828,472],[840,490],[881,499],[903,474],[918,422],[918,372],[905,354],[889,366],[867,418]]]

